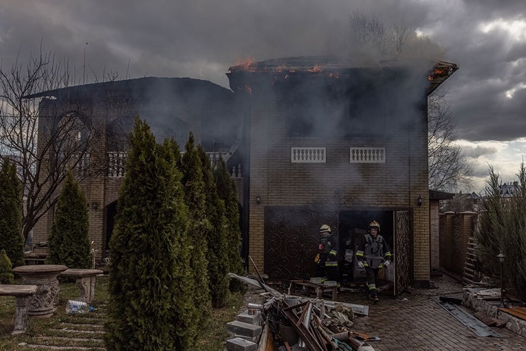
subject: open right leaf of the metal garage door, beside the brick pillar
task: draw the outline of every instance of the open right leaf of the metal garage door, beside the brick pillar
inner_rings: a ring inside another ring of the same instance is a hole
[[[409,211],[395,212],[395,287],[394,295],[404,292],[409,285],[410,246]]]

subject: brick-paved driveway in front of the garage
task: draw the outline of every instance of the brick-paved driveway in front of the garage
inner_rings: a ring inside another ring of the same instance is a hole
[[[461,298],[462,286],[457,281],[443,275],[433,278],[432,286],[409,288],[396,298],[380,293],[377,305],[361,292],[342,292],[338,301],[369,306],[369,316],[356,316],[353,330],[379,336],[380,341],[371,342],[375,351],[526,351],[526,339],[506,328],[493,328],[501,338],[477,337],[431,299],[445,294]]]

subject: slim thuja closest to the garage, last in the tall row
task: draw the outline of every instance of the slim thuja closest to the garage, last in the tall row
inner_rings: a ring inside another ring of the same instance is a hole
[[[228,253],[228,271],[238,275],[243,274],[241,262],[241,230],[239,229],[239,209],[237,206],[236,184],[222,158],[214,170],[217,195],[225,202],[226,211],[226,242]],[[243,284],[237,279],[230,280],[230,290],[239,291]]]

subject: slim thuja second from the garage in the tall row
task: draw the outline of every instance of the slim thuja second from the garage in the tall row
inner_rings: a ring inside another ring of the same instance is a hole
[[[226,242],[226,217],[223,200],[217,195],[212,163],[204,149],[199,145],[197,153],[201,160],[203,181],[206,193],[207,228],[204,235],[208,244],[208,277],[212,306],[224,306],[228,297],[228,252]]]

